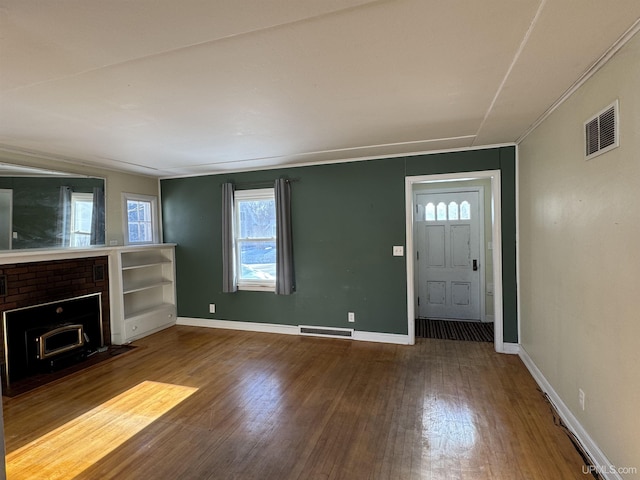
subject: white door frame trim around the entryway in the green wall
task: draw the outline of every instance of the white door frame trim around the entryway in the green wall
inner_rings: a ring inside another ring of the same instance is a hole
[[[494,348],[496,352],[506,353],[503,338],[503,309],[502,309],[502,208],[500,170],[483,170],[474,172],[445,173],[435,175],[419,175],[405,177],[405,224],[406,224],[406,268],[407,268],[407,325],[409,344],[414,345],[415,339],[415,273],[414,273],[414,184],[442,183],[450,181],[464,181],[477,179],[491,180],[491,229],[493,242],[493,306],[494,306]],[[409,260],[410,259],[410,260]]]

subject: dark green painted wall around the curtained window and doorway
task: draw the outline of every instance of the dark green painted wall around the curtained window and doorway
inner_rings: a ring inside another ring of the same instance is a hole
[[[178,244],[178,315],[407,334],[405,257],[391,255],[393,245],[405,244],[405,176],[502,169],[505,242],[515,240],[514,168],[509,147],[162,180],[164,241]],[[220,185],[281,176],[298,180],[292,184],[296,293],[221,293]],[[503,258],[504,294],[513,295],[505,301],[504,339],[516,342],[516,312],[506,310],[516,305],[515,290],[507,288],[515,285],[515,244],[503,254],[513,256]],[[355,324],[347,322],[349,311]]]

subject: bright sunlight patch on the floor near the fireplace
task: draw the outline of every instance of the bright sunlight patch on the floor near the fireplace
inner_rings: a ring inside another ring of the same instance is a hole
[[[9,480],[71,479],[198,389],[145,381],[11,452]]]

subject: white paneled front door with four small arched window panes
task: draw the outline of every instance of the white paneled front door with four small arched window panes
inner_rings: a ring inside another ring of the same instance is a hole
[[[419,318],[481,320],[480,194],[416,195]]]

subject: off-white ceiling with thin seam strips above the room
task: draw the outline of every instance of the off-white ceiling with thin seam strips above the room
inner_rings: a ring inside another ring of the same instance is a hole
[[[0,146],[156,176],[516,142],[640,0],[0,0]]]

